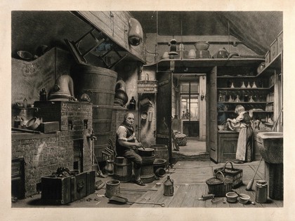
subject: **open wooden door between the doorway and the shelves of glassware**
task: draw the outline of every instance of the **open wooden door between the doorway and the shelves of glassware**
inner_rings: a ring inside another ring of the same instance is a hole
[[[206,104],[209,114],[206,118],[206,151],[209,152],[210,158],[218,161],[217,147],[217,88],[216,88],[217,68],[214,67],[208,76],[208,91],[206,96]]]

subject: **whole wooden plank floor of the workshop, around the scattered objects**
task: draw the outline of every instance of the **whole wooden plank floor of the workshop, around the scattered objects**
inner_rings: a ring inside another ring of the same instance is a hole
[[[133,182],[126,182],[120,184],[120,195],[126,197],[131,202],[149,202],[149,203],[165,203],[165,208],[282,208],[283,201],[276,201],[268,199],[267,203],[255,203],[255,205],[241,203],[228,203],[225,197],[216,197],[214,200],[199,200],[203,194],[208,194],[208,187],[206,180],[213,177],[215,168],[221,168],[225,163],[213,163],[211,161],[178,161],[173,168],[169,170],[171,179],[174,180],[174,194],[173,196],[164,196],[164,178],[155,180],[146,184],[145,187],[140,187]],[[227,165],[227,167],[230,165]],[[234,168],[241,168],[243,170],[242,180],[243,185],[236,189],[237,192],[249,194],[251,201],[255,201],[255,185],[256,180],[264,179],[264,162],[258,168],[256,174],[253,191],[247,192],[246,185],[253,178],[255,170],[258,166],[258,161],[244,164],[233,164]],[[107,178],[96,178],[96,180],[113,179],[112,176]],[[159,182],[161,186],[155,187]],[[133,190],[128,190],[132,188]],[[150,190],[152,189],[152,190]],[[90,199],[90,200],[87,200]],[[58,208],[161,208],[154,204],[141,203],[126,203],[115,204],[110,203],[109,199],[105,197],[105,187],[96,191],[84,199],[74,201],[63,206],[48,206],[41,203],[41,195],[34,196],[34,198],[25,199],[13,203],[13,208],[23,207],[58,207]]]

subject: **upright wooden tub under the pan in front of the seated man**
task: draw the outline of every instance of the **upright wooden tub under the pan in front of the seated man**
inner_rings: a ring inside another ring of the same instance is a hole
[[[140,170],[140,179],[143,180],[144,183],[152,182],[155,180],[155,173],[154,173],[154,161],[155,161],[155,154],[152,156],[141,156],[143,159],[143,165],[141,166]]]

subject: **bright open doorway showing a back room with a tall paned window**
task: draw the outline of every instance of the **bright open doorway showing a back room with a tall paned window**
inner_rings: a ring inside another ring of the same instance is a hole
[[[174,74],[172,88],[173,133],[186,135],[177,155],[206,153],[206,74]]]

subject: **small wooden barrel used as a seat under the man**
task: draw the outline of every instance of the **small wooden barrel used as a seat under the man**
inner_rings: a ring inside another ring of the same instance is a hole
[[[123,156],[114,159],[114,178],[120,182],[129,182],[132,178],[132,163]]]

